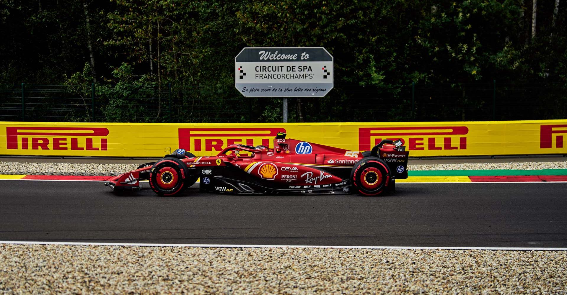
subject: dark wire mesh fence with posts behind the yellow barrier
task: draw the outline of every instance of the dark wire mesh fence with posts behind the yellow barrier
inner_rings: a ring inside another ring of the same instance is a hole
[[[489,121],[567,118],[565,84],[407,84],[335,87],[290,98],[289,122]],[[281,122],[281,98],[247,98],[234,87],[0,85],[0,121]]]

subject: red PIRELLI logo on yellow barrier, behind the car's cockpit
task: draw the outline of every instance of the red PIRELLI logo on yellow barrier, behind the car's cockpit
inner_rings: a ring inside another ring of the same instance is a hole
[[[284,128],[180,128],[179,147],[188,151],[222,151],[231,144],[270,147]]]

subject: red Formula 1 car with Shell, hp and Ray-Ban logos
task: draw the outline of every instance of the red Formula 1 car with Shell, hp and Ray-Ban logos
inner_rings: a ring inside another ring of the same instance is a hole
[[[158,195],[179,195],[201,179],[201,191],[225,194],[352,194],[395,191],[408,178],[408,154],[401,141],[382,140],[371,151],[348,151],[322,144],[274,138],[274,148],[232,144],[217,156],[195,157],[184,149],[121,174],[105,185],[139,189],[149,180]]]

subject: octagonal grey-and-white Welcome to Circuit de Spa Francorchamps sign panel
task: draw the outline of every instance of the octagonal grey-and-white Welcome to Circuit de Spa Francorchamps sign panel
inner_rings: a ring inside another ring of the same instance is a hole
[[[246,97],[323,97],[333,74],[322,47],[244,48],[234,58],[234,84]]]

